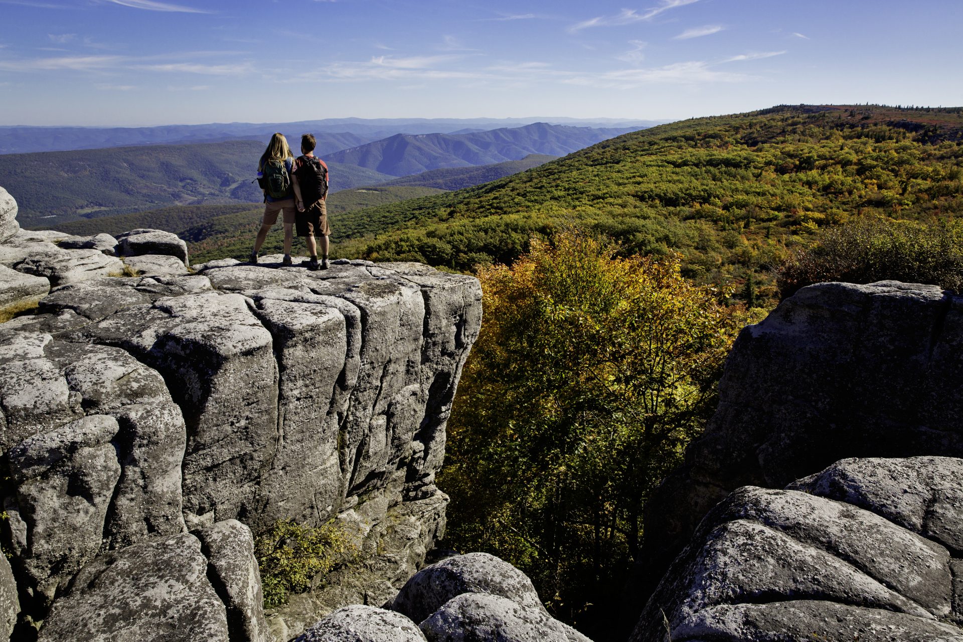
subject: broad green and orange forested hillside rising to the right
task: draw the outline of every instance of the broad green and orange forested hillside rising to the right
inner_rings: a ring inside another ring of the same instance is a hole
[[[479,187],[346,216],[338,251],[455,270],[510,263],[533,235],[577,225],[622,253],[680,252],[697,282],[771,268],[858,216],[963,212],[959,109],[782,106],[661,125]]]

